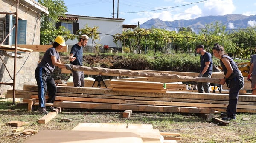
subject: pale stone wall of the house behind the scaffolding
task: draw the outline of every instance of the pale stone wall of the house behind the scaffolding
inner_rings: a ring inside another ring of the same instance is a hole
[[[26,4],[20,0],[18,17],[19,19],[27,20],[26,44],[40,43],[40,18],[38,11],[35,8],[29,9]],[[23,4],[25,6],[23,6]],[[16,12],[16,2],[14,0],[1,0],[1,12]],[[15,15],[13,15],[15,17]],[[5,14],[0,14],[0,17],[5,17]],[[3,31],[1,31],[3,32]],[[2,42],[2,41],[0,41]],[[5,51],[0,50],[0,82],[12,83],[14,75],[14,56],[8,56]],[[21,53],[21,58],[16,59],[16,81],[15,89],[23,89],[23,84],[36,84],[34,71],[39,61],[39,52]],[[7,72],[7,69],[11,75]],[[6,93],[7,89],[13,89],[10,85],[0,85],[0,94]]]

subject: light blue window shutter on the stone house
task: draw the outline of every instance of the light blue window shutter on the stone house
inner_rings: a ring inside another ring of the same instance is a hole
[[[17,44],[26,44],[26,20],[18,20]]]

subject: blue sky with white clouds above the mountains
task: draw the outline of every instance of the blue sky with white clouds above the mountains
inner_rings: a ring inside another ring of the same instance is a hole
[[[152,18],[189,20],[209,15],[256,15],[256,0],[63,0],[66,14],[125,19],[123,24],[143,24]],[[118,17],[117,17],[118,7]],[[248,26],[256,25],[255,21]],[[230,25],[232,28],[233,25]]]

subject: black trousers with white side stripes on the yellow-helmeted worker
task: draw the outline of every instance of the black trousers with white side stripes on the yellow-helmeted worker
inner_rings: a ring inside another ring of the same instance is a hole
[[[44,70],[43,67],[35,69],[35,79],[38,84],[39,107],[45,107],[45,95],[48,90],[47,103],[53,103],[57,93],[57,86],[52,76]]]

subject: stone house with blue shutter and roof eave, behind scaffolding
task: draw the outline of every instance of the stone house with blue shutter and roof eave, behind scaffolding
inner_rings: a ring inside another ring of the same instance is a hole
[[[48,14],[48,8],[34,0],[19,0],[18,18],[16,14],[16,0],[0,0],[0,43],[3,42],[9,31],[18,19],[17,44],[40,44],[40,15]],[[3,42],[5,45],[15,44],[15,28]],[[0,95],[7,89],[13,89],[5,83],[13,82],[14,54],[12,51],[0,48]],[[34,71],[39,61],[39,52],[19,52],[16,58],[16,89],[23,89],[23,84],[36,84]],[[4,63],[3,63],[4,62]],[[6,64],[6,67],[4,66]],[[9,75],[9,73],[10,75]]]

